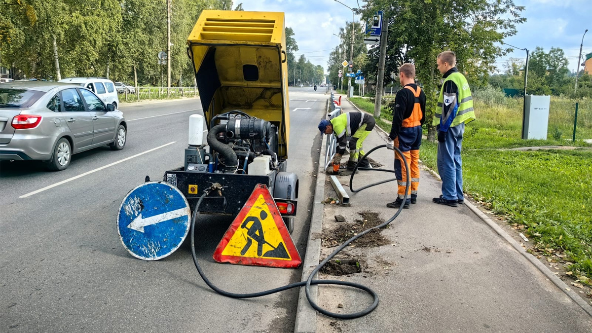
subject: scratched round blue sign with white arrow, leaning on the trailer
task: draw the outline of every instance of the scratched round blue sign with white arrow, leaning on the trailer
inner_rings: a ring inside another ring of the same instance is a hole
[[[136,258],[159,260],[175,252],[189,233],[191,209],[176,187],[150,181],[124,198],[117,213],[123,246]]]

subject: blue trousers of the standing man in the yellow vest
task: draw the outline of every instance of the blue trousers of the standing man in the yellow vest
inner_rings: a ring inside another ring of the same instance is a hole
[[[438,142],[438,173],[442,178],[442,197],[446,200],[464,200],[462,195],[462,135],[465,124],[450,127],[445,142]]]

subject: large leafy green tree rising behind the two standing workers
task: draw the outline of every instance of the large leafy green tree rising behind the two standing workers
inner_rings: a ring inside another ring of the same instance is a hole
[[[426,123],[432,140],[435,128],[430,120],[439,94],[438,53],[453,50],[459,71],[474,86],[485,84],[496,58],[509,52],[498,43],[516,34],[516,24],[526,21],[520,15],[524,7],[513,0],[367,0],[360,12],[368,20],[378,10],[385,10],[390,24],[388,62],[408,59],[416,65],[417,80],[427,95]]]

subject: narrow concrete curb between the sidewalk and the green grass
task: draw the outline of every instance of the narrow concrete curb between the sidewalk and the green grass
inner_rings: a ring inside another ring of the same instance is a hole
[[[438,175],[437,172],[428,168],[425,164],[423,166],[437,180],[442,181],[442,178],[440,178],[440,175]],[[590,306],[577,293],[575,293],[574,290],[571,290],[571,288],[567,284],[565,284],[565,282],[562,281],[561,278],[556,276],[551,270],[549,270],[548,267],[546,267],[542,262],[540,262],[534,255],[527,252],[525,248],[520,246],[520,244],[516,241],[516,239],[512,238],[512,236],[510,236],[510,234],[507,233],[506,230],[502,229],[499,225],[497,225],[497,223],[494,220],[490,219],[490,217],[487,216],[487,214],[481,212],[481,210],[478,209],[477,206],[475,206],[474,204],[472,204],[468,200],[465,200],[464,204],[466,207],[469,207],[469,209],[472,210],[472,212],[475,213],[475,215],[477,215],[483,222],[485,222],[488,226],[490,226],[491,229],[493,229],[498,235],[500,235],[501,238],[505,239],[506,242],[510,243],[510,245],[514,249],[516,249],[516,251],[518,251],[520,254],[522,254],[526,258],[526,260],[530,261],[531,264],[533,264],[536,268],[538,268],[540,273],[543,273],[549,280],[551,280],[555,284],[555,286],[557,286],[559,289],[561,289],[561,291],[564,292],[568,297],[570,297],[571,300],[573,300],[575,303],[577,303],[577,305],[579,305],[584,310],[585,313],[588,313],[588,315],[592,317],[592,306]]]

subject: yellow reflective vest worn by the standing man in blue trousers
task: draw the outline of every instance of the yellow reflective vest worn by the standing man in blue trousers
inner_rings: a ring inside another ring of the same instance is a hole
[[[444,79],[442,88],[440,89],[440,97],[438,98],[438,104],[436,113],[434,114],[433,126],[440,124],[440,118],[442,117],[442,105],[444,102],[444,85],[446,81],[452,81],[458,88],[458,94],[456,95],[456,103],[458,104],[458,110],[456,111],[456,117],[452,120],[450,127],[458,126],[462,123],[470,123],[475,120],[475,111],[473,109],[473,97],[471,95],[471,88],[469,88],[469,82],[466,81],[464,75],[459,72],[453,72],[448,75],[448,78]]]

